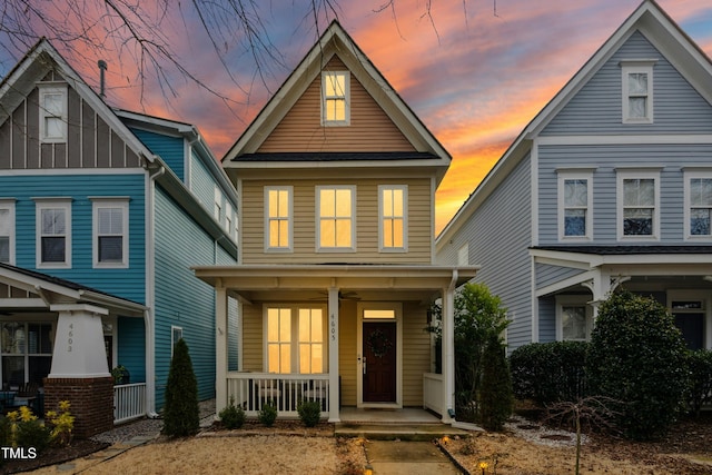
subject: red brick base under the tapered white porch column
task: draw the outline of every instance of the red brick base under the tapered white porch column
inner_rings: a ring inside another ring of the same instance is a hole
[[[75,437],[87,438],[113,428],[113,378],[44,378],[44,410],[69,400]]]

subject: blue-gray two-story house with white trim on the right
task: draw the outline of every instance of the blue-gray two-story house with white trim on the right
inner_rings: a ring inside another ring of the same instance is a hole
[[[644,1],[526,126],[436,241],[513,320],[510,349],[585,340],[617,286],[712,348],[712,63]]]

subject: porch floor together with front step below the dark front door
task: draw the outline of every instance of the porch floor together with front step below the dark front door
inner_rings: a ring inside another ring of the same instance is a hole
[[[466,436],[467,431],[443,424],[439,416],[419,408],[358,409],[342,407],[336,436],[382,441],[432,441],[446,435]]]

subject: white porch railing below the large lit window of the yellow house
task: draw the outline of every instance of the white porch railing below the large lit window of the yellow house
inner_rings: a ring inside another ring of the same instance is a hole
[[[298,417],[301,400],[322,403],[322,416],[329,412],[329,375],[276,375],[269,373],[227,374],[227,400],[234,398],[248,417],[257,417],[263,406],[271,400],[279,417]],[[218,407],[218,413],[221,410]]]

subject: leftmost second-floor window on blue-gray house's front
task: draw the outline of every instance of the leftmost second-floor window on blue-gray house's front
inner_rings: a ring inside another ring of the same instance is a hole
[[[593,175],[581,170],[558,171],[558,238],[593,238]]]

